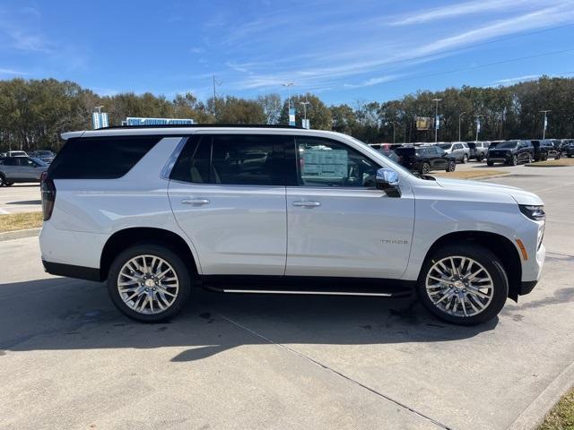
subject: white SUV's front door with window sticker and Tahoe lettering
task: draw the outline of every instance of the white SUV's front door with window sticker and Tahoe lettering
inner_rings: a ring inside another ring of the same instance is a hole
[[[294,146],[286,151],[297,185],[287,186],[285,274],[399,278],[411,249],[413,195],[376,189],[381,166],[344,142],[297,136]]]

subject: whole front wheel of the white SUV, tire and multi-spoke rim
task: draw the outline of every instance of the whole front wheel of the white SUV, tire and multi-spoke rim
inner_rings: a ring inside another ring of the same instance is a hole
[[[509,294],[500,259],[481,245],[447,245],[433,253],[419,276],[419,297],[448,323],[474,325],[496,316]]]

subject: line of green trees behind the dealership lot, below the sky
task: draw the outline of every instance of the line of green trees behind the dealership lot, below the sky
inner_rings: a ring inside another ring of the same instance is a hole
[[[287,124],[288,105],[296,108],[301,124],[306,108],[312,128],[351,134],[363,142],[424,142],[434,140],[434,129],[417,130],[417,116],[433,117],[439,101],[439,141],[532,139],[543,133],[548,114],[548,138],[574,136],[574,78],[542,77],[511,86],[420,90],[402,99],[355,100],[327,106],[317,95],[261,95],[257,99],[222,96],[206,100],[194,94],[173,99],[151,92],[100,96],[74,82],[55,79],[0,81],[0,151],[58,150],[60,133],[91,129],[96,107],[108,112],[110,125],[126,116],[193,118],[200,124]],[[305,103],[305,104],[302,104]],[[460,125],[460,127],[459,127]]]

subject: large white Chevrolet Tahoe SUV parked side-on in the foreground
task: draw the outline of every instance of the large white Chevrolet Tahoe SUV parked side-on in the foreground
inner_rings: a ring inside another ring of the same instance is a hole
[[[543,202],[420,178],[350,136],[289,127],[65,133],[42,183],[49,273],[108,280],[129,317],[227,293],[401,297],[474,324],[535,287]]]

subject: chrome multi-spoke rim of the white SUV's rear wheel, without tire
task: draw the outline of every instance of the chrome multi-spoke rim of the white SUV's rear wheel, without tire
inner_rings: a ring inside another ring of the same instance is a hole
[[[138,314],[160,314],[178,297],[178,274],[169,262],[156,255],[138,255],[119,271],[117,291]]]

